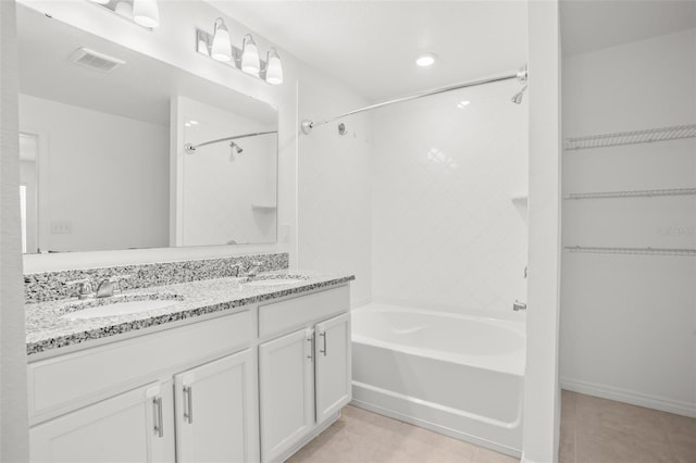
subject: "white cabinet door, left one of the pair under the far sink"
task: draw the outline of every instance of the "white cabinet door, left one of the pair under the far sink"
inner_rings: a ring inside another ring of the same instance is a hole
[[[314,331],[259,346],[261,460],[275,461],[314,424]]]

